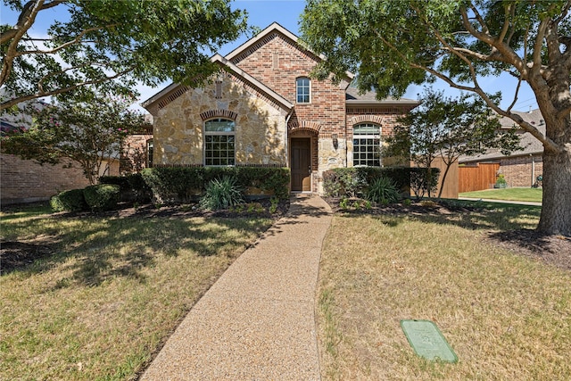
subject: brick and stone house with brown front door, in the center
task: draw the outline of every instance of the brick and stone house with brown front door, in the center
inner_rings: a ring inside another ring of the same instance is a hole
[[[310,79],[325,58],[277,23],[223,57],[197,87],[172,84],[143,106],[153,114],[156,165],[254,165],[291,169],[292,191],[320,192],[324,170],[389,164],[380,147],[395,120],[418,105],[360,95]]]

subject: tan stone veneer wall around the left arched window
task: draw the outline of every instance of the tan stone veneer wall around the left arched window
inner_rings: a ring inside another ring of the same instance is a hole
[[[285,110],[225,74],[216,83],[189,89],[162,108],[154,122],[153,160],[159,164],[203,164],[201,114],[236,115],[236,164],[287,163]]]

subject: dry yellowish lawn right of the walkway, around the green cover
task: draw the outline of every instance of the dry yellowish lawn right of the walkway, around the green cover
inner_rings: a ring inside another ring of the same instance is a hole
[[[571,273],[474,228],[517,219],[466,219],[335,215],[319,275],[324,379],[568,379]],[[401,319],[433,320],[459,362],[419,358]]]

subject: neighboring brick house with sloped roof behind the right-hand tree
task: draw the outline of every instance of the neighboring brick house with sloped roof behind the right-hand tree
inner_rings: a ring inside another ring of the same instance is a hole
[[[545,120],[543,120],[542,112],[539,109],[514,113],[520,115],[525,121],[539,129],[542,134],[545,134]],[[501,127],[505,129],[513,128],[516,125],[513,120],[505,117],[501,118],[500,122]],[[481,155],[460,157],[459,164],[475,166],[476,164],[498,163],[500,166],[495,176],[503,175],[508,186],[534,186],[537,177],[542,176],[543,173],[543,145],[529,132],[525,132],[521,128],[517,134],[520,137],[522,151],[504,155],[499,150],[492,149]],[[489,185],[494,182],[495,178],[491,178]]]

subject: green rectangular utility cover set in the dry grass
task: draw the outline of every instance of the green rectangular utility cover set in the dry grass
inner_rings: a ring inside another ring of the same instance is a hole
[[[418,356],[428,360],[458,361],[440,329],[430,320],[401,320],[404,335]]]

